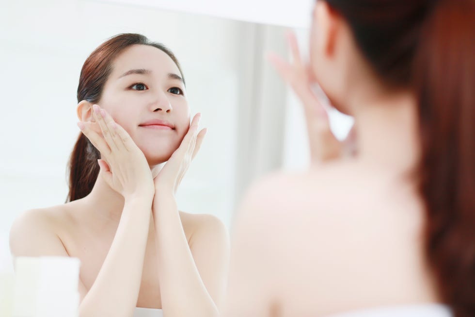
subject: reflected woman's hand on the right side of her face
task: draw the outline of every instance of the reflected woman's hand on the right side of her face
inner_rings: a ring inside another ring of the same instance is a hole
[[[159,170],[153,172],[155,192],[169,191],[175,194],[190,163],[200,150],[201,143],[206,134],[206,129],[198,133],[201,114],[196,114],[191,121],[190,128],[167,163]]]

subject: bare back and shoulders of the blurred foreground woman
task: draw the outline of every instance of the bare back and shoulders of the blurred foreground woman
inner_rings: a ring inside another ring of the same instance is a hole
[[[395,179],[373,167],[338,162],[255,182],[233,228],[230,285],[238,290],[237,302],[277,299],[295,309],[306,302],[327,315],[346,299],[374,304],[388,296],[381,289],[414,294],[417,283],[406,277],[422,271],[423,213],[415,194]],[[361,285],[375,292],[360,293]]]

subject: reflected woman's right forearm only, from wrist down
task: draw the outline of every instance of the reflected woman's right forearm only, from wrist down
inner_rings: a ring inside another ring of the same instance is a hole
[[[153,206],[162,308],[167,317],[213,317],[218,309],[206,290],[170,193],[156,195]]]

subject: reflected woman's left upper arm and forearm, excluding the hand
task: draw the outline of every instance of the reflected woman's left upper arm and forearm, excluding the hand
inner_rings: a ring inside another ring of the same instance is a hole
[[[136,306],[150,223],[151,202],[127,201],[97,278],[89,292],[79,281],[79,316],[130,317]],[[10,231],[14,256],[69,256],[47,218],[39,211],[19,217]]]

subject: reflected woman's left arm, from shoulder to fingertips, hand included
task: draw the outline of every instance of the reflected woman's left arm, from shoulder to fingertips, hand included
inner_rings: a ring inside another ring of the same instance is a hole
[[[128,133],[97,105],[93,105],[92,114],[94,122],[80,122],[78,126],[101,153],[98,177],[124,197],[124,208],[94,284],[87,294],[84,285],[79,285],[82,298],[79,315],[129,317],[137,304],[141,283],[154,195],[153,178],[143,152]],[[93,124],[99,125],[101,134],[92,129]],[[30,231],[36,234],[34,241],[24,238]],[[28,213],[22,217],[12,228],[10,243],[16,256],[68,255],[53,226],[48,225],[46,213]]]

